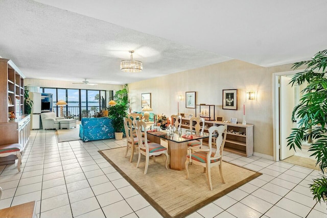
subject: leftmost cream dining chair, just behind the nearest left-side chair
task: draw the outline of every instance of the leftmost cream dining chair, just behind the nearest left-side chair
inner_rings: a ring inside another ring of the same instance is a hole
[[[138,147],[138,139],[136,136],[133,136],[132,119],[124,117],[124,128],[125,128],[126,142],[127,142],[125,158],[127,156],[128,149],[131,148],[131,157],[129,159],[129,162],[132,162],[134,152],[135,152],[136,148]],[[142,137],[142,142],[144,142],[143,137]]]

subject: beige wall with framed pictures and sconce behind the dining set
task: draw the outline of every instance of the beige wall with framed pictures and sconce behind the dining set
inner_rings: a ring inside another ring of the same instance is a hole
[[[130,83],[129,98],[134,111],[141,110],[141,93],[151,93],[153,113],[177,114],[178,95],[181,113],[195,113],[185,108],[185,92],[196,91],[196,104],[213,104],[216,116],[224,120],[235,117],[242,122],[243,104],[247,124],[253,124],[254,152],[273,156],[272,73],[289,71],[291,65],[261,67],[239,60],[230,60],[159,78]],[[222,109],[222,90],[238,89],[238,110]],[[246,91],[257,92],[255,101],[245,102]]]

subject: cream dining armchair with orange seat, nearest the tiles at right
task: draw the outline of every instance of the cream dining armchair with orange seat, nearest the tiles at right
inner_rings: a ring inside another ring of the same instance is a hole
[[[222,172],[222,154],[226,140],[227,125],[212,126],[208,129],[209,132],[209,144],[208,149],[191,148],[189,154],[186,156],[185,169],[186,179],[189,179],[189,163],[194,165],[200,165],[204,167],[206,173],[207,182],[210,190],[213,190],[211,181],[211,167],[219,165],[219,173],[223,183],[225,183]],[[216,138],[217,150],[213,151],[212,139],[214,132],[217,132]]]

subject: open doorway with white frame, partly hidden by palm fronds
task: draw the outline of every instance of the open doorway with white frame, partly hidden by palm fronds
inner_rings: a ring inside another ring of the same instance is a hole
[[[295,165],[306,163],[303,166],[313,168],[315,159],[310,157],[308,149],[310,141],[303,143],[302,150],[290,150],[287,147],[287,137],[292,128],[297,127],[297,120],[292,120],[292,111],[300,99],[300,91],[305,87],[291,86],[289,81],[300,70],[273,74],[273,101],[274,101],[274,160],[285,161]]]

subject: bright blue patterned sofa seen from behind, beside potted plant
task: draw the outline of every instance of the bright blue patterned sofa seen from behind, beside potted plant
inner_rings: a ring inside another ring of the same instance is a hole
[[[114,138],[114,129],[108,117],[83,117],[80,124],[80,137],[83,141]]]

